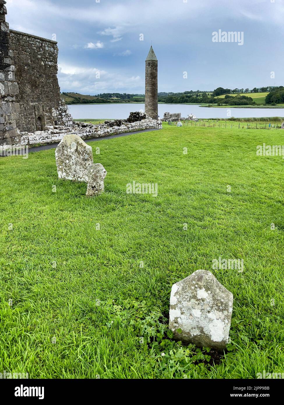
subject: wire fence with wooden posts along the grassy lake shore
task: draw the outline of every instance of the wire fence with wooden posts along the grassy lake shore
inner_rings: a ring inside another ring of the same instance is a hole
[[[222,120],[203,120],[198,121],[182,120],[183,126],[195,127],[211,127],[211,128],[238,128],[238,129],[280,129],[281,124],[271,122],[235,122],[235,121],[222,121]],[[171,126],[177,126],[177,121],[168,121]]]

